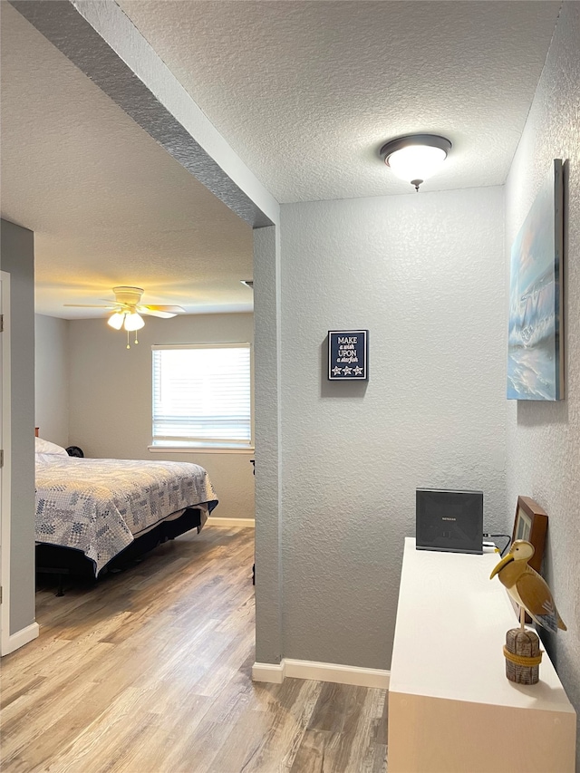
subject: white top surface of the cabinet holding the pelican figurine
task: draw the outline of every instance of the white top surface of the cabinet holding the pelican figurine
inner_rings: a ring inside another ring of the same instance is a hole
[[[498,561],[491,550],[416,550],[414,538],[405,539],[389,690],[575,713],[546,652],[537,684],[507,680],[502,650],[518,623],[506,589],[489,579]]]

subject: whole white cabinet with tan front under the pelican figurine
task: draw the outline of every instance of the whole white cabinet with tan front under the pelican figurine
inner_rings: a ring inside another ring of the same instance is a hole
[[[575,710],[544,653],[540,681],[505,676],[498,554],[405,540],[389,688],[389,773],[573,773]],[[566,635],[566,633],[558,633]]]

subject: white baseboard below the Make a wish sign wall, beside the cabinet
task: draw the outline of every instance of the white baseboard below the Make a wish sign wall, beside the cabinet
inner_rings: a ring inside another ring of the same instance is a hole
[[[254,663],[253,681],[270,681],[281,684],[285,677],[332,681],[336,684],[354,684],[359,687],[389,689],[391,672],[382,669],[345,666],[340,663],[295,661],[284,658],[280,663]]]

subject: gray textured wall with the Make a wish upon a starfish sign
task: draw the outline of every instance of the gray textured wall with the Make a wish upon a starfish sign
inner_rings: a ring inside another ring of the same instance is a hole
[[[284,654],[389,668],[415,488],[482,488],[503,524],[503,191],[282,207]],[[369,329],[370,380],[325,338]]]

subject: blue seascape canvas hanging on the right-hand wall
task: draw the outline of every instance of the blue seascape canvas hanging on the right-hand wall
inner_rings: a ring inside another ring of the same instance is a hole
[[[507,399],[562,400],[562,161],[538,191],[511,249]]]

